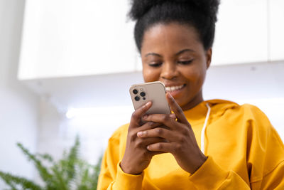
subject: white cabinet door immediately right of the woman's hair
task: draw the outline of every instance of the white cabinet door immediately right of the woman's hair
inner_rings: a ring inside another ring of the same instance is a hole
[[[266,0],[221,1],[218,18],[212,65],[268,60]]]

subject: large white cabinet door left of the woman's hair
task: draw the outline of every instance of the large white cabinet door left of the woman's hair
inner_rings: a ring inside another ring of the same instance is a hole
[[[135,70],[128,1],[27,0],[18,78]]]

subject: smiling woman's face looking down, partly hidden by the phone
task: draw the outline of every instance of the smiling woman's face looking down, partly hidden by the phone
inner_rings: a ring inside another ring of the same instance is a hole
[[[195,28],[156,24],[143,36],[143,78],[163,82],[182,110],[189,110],[203,101],[202,85],[211,55],[211,48],[204,51]]]

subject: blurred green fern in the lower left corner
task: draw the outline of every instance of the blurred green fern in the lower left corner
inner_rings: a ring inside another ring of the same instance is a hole
[[[75,144],[69,153],[64,152],[62,159],[55,162],[50,154],[31,154],[21,143],[17,146],[22,150],[28,160],[35,164],[44,185],[40,186],[34,181],[21,176],[0,171],[0,178],[12,189],[31,190],[96,190],[102,157],[96,165],[88,164],[79,158],[80,139],[76,137]],[[45,164],[43,164],[46,162]],[[48,167],[46,165],[49,165]]]

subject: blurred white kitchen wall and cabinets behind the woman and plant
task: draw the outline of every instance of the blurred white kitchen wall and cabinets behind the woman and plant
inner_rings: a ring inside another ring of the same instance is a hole
[[[284,139],[284,1],[223,0],[205,100],[256,105]],[[16,147],[95,164],[142,83],[129,1],[0,0],[0,170],[37,179]],[[4,183],[0,181],[0,189]]]

